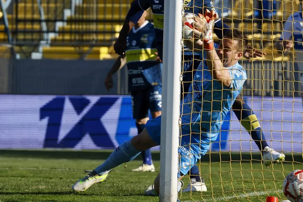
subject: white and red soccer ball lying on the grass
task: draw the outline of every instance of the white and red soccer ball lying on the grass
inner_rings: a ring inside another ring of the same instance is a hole
[[[303,171],[295,170],[285,177],[283,193],[291,202],[303,202]]]

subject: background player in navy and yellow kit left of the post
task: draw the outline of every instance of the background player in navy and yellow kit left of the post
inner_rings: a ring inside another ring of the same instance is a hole
[[[107,90],[113,87],[112,75],[125,64],[128,68],[128,91],[131,92],[133,118],[138,134],[149,119],[161,115],[162,64],[156,55],[154,26],[146,20],[146,12],[128,33],[125,57],[119,56],[105,79]],[[156,61],[157,60],[157,61]],[[150,149],[141,152],[143,163],[132,171],[155,172]]]

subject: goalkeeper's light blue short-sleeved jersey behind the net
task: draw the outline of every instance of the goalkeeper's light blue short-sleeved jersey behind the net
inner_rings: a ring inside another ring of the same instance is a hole
[[[189,93],[181,101],[182,128],[205,137],[218,135],[221,124],[247,79],[245,69],[236,63],[227,68],[231,76],[230,87],[212,80],[206,65],[200,63]]]

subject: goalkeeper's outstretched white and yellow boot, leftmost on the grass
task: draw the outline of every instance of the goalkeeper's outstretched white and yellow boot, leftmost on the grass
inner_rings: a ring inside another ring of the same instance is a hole
[[[85,173],[89,173],[89,174],[87,174],[85,177],[83,177],[82,179],[78,180],[78,182],[73,184],[72,186],[73,191],[76,192],[85,191],[93,184],[105,182],[108,177],[108,171],[102,173],[101,175],[99,174],[91,175],[91,172],[89,171],[85,171]]]

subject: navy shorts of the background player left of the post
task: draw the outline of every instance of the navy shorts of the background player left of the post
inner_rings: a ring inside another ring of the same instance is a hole
[[[161,111],[162,86],[155,85],[131,92],[132,111],[134,119],[149,117],[149,112]]]

